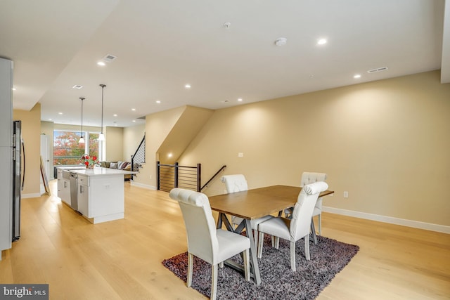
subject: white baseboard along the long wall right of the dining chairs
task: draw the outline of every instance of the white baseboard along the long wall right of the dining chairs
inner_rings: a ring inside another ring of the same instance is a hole
[[[437,231],[438,233],[450,233],[450,226],[444,226],[433,223],[425,223],[420,221],[406,220],[394,218],[392,216],[380,216],[378,214],[368,214],[361,211],[351,211],[347,209],[337,209],[334,207],[322,207],[322,210],[332,214],[342,214],[343,216],[354,216],[355,218],[379,221],[383,223],[408,226],[412,228],[420,228],[425,230]]]

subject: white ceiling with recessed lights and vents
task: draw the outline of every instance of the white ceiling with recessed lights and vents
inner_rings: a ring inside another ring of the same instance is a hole
[[[180,105],[218,109],[430,70],[449,83],[449,1],[2,0],[0,57],[14,61],[14,108],[39,102],[42,120],[79,125],[85,97],[84,125],[100,126],[106,84],[103,124],[132,126]],[[96,65],[108,54],[117,58]],[[368,74],[378,67],[388,70]]]

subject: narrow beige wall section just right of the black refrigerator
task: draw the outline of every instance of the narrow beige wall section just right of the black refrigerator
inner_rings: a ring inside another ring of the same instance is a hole
[[[22,197],[41,195],[41,105],[32,110],[13,110],[13,119],[22,121],[22,138],[25,145],[25,183]]]

